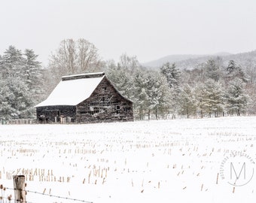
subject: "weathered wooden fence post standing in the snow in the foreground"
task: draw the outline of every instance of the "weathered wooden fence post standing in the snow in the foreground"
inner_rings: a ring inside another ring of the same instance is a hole
[[[14,198],[15,202],[26,202],[24,175],[14,175]]]

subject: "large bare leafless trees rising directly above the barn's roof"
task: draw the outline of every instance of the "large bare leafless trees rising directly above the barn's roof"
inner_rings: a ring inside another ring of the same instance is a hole
[[[99,71],[101,66],[98,49],[92,43],[82,38],[78,41],[65,39],[50,56],[48,72],[51,83],[56,86],[63,75]]]

